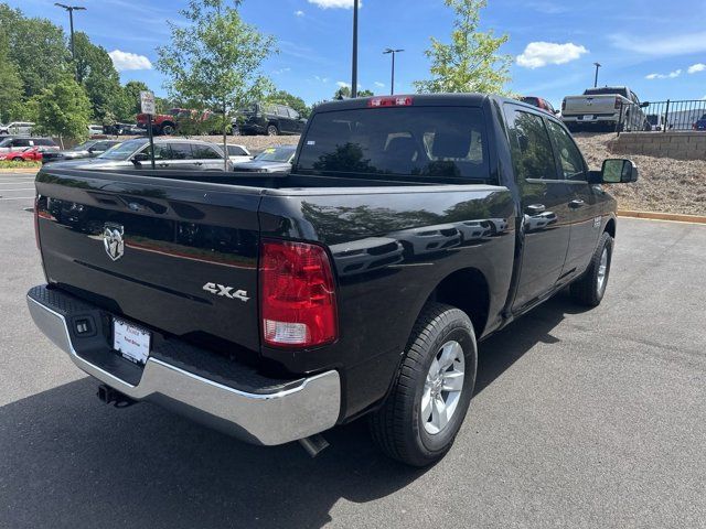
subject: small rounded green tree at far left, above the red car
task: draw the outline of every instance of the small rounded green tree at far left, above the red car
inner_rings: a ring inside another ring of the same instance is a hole
[[[44,88],[33,101],[39,130],[57,136],[60,140],[71,138],[82,141],[88,137],[90,100],[69,75]]]

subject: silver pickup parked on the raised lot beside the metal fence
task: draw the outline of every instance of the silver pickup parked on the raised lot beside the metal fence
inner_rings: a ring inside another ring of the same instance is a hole
[[[561,120],[571,131],[652,130],[642,110],[649,102],[640,99],[627,86],[587,88],[582,96],[567,96],[561,102]]]

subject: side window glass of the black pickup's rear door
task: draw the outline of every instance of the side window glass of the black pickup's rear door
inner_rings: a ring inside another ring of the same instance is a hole
[[[544,119],[510,107],[507,131],[515,174],[521,180],[557,180],[556,161]]]

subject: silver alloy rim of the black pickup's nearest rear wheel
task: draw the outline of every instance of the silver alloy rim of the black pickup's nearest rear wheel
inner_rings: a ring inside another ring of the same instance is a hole
[[[424,385],[419,410],[427,433],[436,435],[451,421],[461,399],[464,376],[463,348],[458,342],[449,341],[434,357]]]

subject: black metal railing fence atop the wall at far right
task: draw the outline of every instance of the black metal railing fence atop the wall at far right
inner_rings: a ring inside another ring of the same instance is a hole
[[[702,120],[702,118],[704,118]],[[703,130],[706,133],[706,100],[685,99],[644,102],[641,106],[627,104],[621,108],[616,132],[677,132]],[[699,122],[700,121],[700,122]]]

